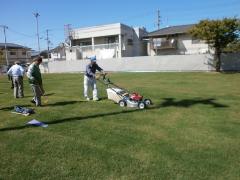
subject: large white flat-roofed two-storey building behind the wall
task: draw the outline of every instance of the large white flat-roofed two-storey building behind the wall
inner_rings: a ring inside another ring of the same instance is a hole
[[[73,29],[71,45],[66,47],[66,59],[98,59],[147,55],[145,28],[132,28],[121,23]]]

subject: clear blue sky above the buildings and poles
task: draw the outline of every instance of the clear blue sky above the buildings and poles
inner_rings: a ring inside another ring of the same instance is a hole
[[[41,50],[46,49],[46,29],[51,47],[64,41],[64,24],[72,28],[121,22],[156,30],[157,9],[161,27],[197,23],[201,19],[240,17],[240,0],[11,0],[1,1],[0,25],[9,27],[7,41],[37,49],[39,12]],[[0,28],[0,42],[4,42]]]

